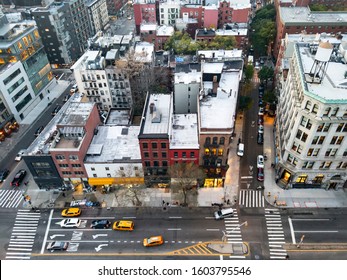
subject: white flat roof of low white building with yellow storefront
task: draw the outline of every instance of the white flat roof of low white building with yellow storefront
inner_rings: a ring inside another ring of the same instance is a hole
[[[141,162],[139,126],[99,126],[84,162]]]

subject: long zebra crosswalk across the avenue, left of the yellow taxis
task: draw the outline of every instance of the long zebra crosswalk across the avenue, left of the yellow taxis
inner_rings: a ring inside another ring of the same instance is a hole
[[[18,210],[6,251],[6,259],[30,259],[40,215],[28,209]]]

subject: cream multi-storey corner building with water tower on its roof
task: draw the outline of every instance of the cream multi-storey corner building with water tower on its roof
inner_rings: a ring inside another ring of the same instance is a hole
[[[329,42],[295,45],[276,117],[276,181],[284,188],[346,187],[347,65],[333,59],[338,53]]]

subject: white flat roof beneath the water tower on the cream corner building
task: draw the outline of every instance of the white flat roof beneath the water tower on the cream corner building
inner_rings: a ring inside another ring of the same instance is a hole
[[[304,43],[296,44],[296,52],[301,62],[302,75],[310,73],[315,55],[310,53],[310,48]],[[326,75],[320,84],[308,83],[302,76],[308,91],[307,94],[321,102],[347,103],[346,71],[347,64],[330,60],[326,69]]]

